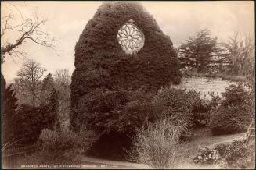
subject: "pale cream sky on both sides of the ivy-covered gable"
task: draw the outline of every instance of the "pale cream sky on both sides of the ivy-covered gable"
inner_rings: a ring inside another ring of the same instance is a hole
[[[102,2],[22,2],[20,12],[31,16],[38,11],[41,16],[49,17],[44,29],[58,40],[56,44],[59,56],[49,48],[41,47],[27,41],[23,45],[28,58],[34,58],[47,73],[55,69],[74,70],[74,46],[89,19]],[[185,41],[197,31],[207,28],[219,41],[228,41],[235,31],[241,34],[254,34],[254,2],[141,2],[150,14],[157,20],[158,25],[171,37],[174,46]],[[1,2],[1,16],[8,12],[8,4]],[[9,34],[13,41],[14,34]],[[5,41],[5,40],[4,40]],[[16,62],[16,63],[15,63]],[[7,82],[16,77],[23,63],[22,59],[7,56],[2,65],[2,73]]]

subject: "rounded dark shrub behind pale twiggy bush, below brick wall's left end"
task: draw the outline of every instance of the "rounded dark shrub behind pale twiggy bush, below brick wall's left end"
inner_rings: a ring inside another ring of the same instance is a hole
[[[185,92],[175,88],[165,88],[154,97],[154,112],[158,119],[168,116],[175,125],[184,125],[182,138],[192,136],[194,128],[193,110],[200,104],[199,94],[195,91]]]

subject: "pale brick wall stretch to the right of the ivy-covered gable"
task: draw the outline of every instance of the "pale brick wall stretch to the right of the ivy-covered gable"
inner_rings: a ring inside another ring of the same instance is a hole
[[[222,80],[221,78],[208,78],[208,77],[183,77],[182,82],[178,85],[171,84],[171,87],[178,89],[196,90],[200,92],[200,97],[211,99],[211,92],[214,95],[222,97],[222,93],[225,92],[225,88],[231,84],[238,84],[237,82],[231,82],[229,80]]]

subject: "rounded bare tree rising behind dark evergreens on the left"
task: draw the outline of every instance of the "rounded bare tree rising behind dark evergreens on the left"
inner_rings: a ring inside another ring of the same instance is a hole
[[[39,91],[41,78],[44,76],[46,69],[42,68],[40,63],[33,59],[23,63],[23,67],[17,73],[18,79],[16,84],[21,90],[27,90],[30,95],[30,103],[36,106],[39,101]]]

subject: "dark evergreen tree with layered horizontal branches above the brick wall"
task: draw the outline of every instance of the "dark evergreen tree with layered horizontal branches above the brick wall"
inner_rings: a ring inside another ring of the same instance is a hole
[[[217,37],[211,37],[209,30],[201,30],[178,47],[178,58],[182,67],[206,72],[210,68],[218,68],[227,63],[225,50],[218,47]]]

